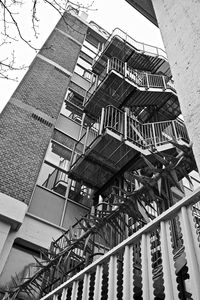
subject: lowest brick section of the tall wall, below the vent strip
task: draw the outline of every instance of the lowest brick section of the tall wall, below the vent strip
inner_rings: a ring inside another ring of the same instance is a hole
[[[1,115],[0,128],[1,192],[28,202],[51,128],[10,103]]]

